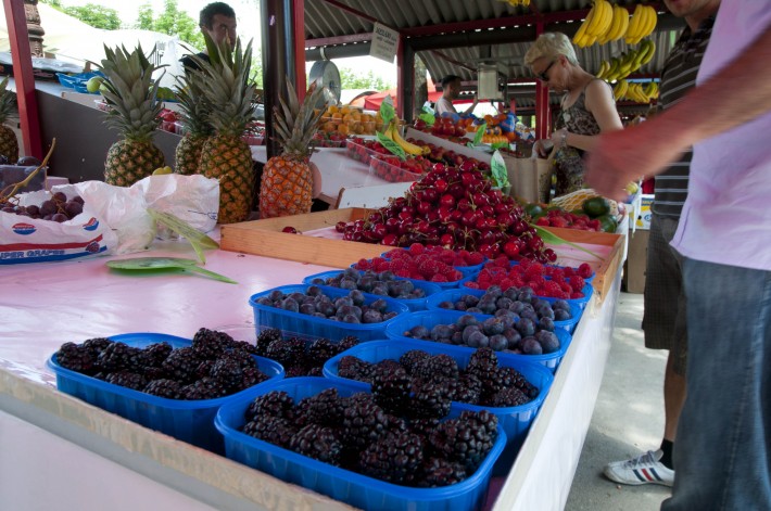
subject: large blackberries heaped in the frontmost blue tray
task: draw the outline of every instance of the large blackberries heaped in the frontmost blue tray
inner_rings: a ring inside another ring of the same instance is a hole
[[[401,384],[389,388],[401,392]],[[249,405],[241,431],[370,477],[426,488],[473,474],[497,438],[497,418],[490,412],[466,411],[444,420],[446,413],[416,419],[405,410],[384,409],[372,394],[343,397],[336,388],[299,403],[271,391]]]

